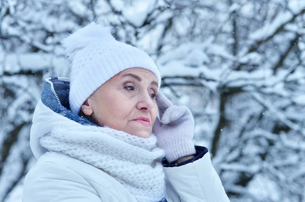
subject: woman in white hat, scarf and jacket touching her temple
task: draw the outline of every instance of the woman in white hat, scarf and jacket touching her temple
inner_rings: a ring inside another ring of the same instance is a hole
[[[159,91],[146,53],[96,23],[63,45],[71,80],[44,84],[23,202],[229,201],[207,148],[192,143],[192,113]]]

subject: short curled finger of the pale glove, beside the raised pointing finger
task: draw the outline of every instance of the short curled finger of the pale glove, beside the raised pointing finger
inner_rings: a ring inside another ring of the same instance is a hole
[[[169,124],[179,119],[181,116],[185,115],[189,109],[186,106],[171,106],[163,114],[161,118],[162,124]]]

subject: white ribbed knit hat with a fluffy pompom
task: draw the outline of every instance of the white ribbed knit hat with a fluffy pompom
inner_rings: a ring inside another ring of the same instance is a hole
[[[153,72],[160,88],[161,75],[155,62],[144,51],[116,41],[109,26],[92,22],[65,38],[63,46],[71,64],[69,101],[75,114],[96,89],[128,68]]]

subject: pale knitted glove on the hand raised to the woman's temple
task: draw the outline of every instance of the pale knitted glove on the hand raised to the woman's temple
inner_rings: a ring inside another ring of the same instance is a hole
[[[186,106],[174,105],[162,92],[157,96],[159,118],[156,118],[153,133],[157,137],[157,145],[165,151],[169,163],[181,157],[196,153],[192,142],[194,136],[194,118]]]

